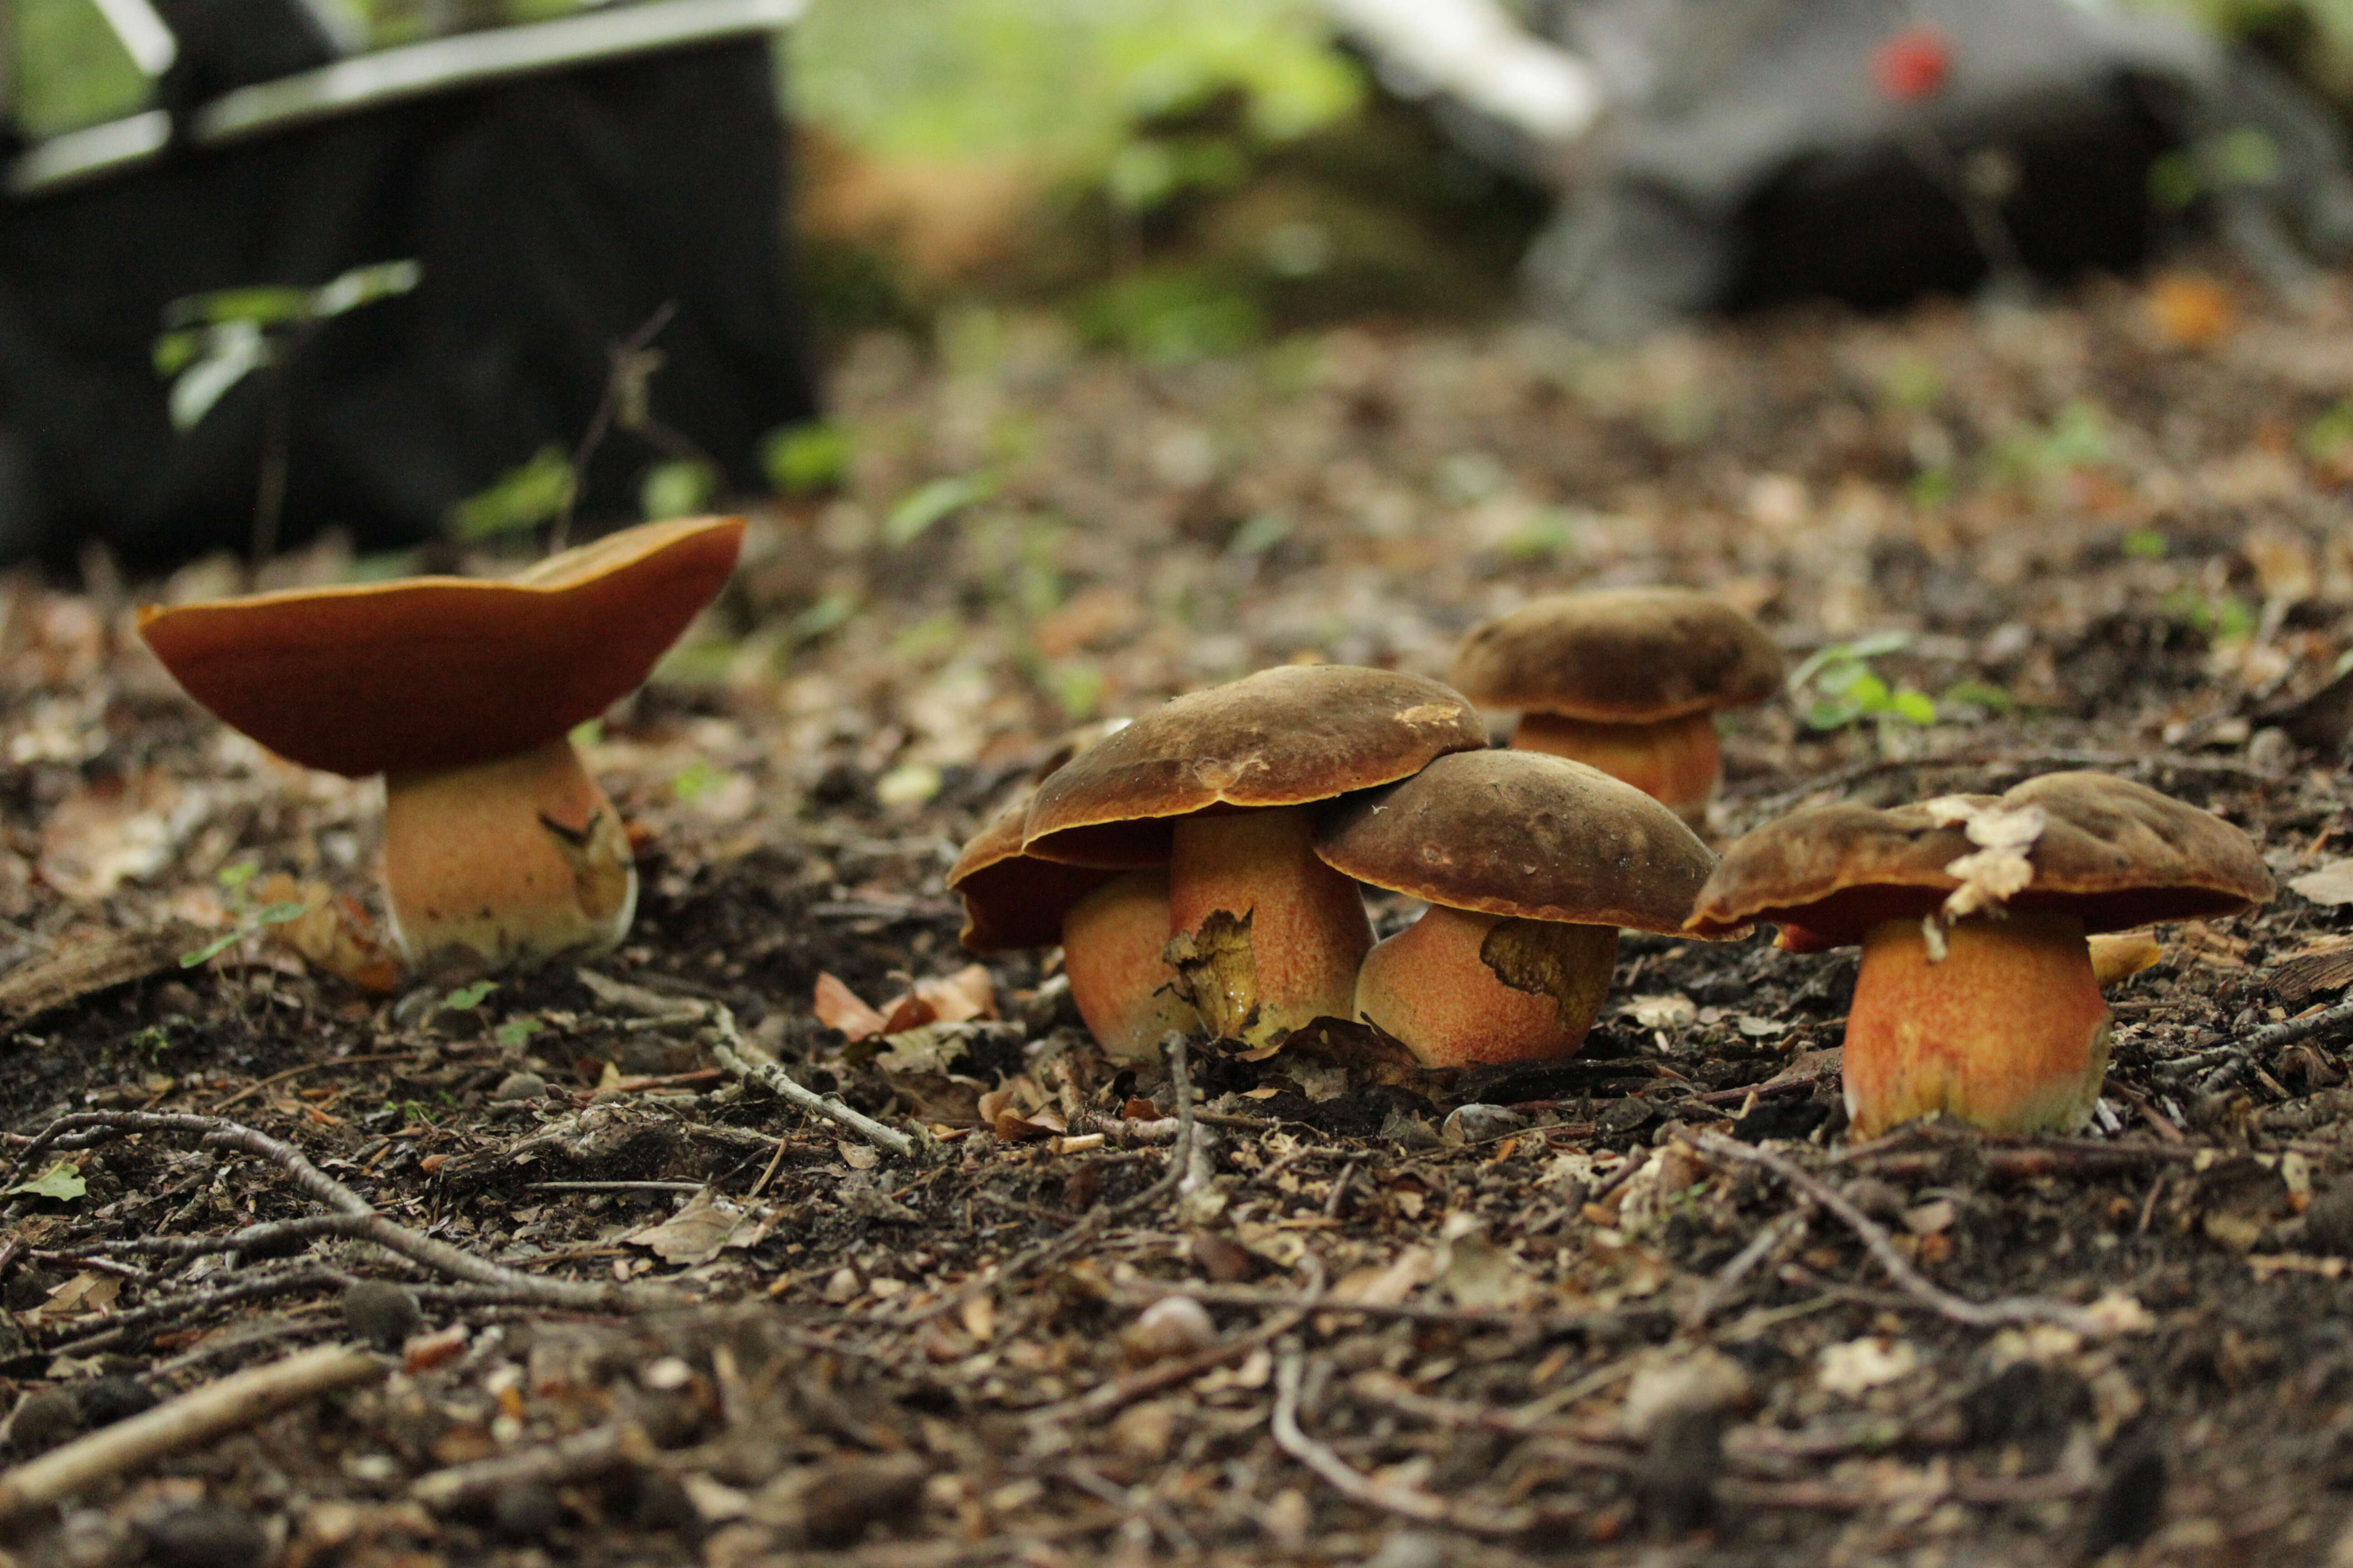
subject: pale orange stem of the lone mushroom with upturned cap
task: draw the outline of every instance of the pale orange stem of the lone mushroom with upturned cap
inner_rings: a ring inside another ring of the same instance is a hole
[[[638,907],[628,832],[569,738],[384,780],[384,900],[409,964],[492,966],[621,940]]]

